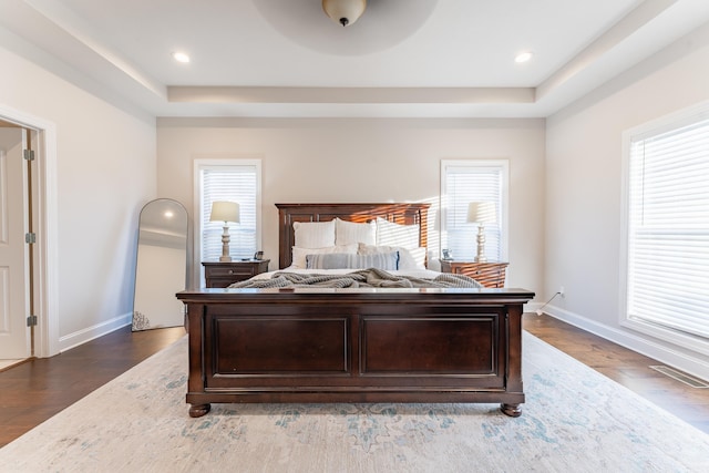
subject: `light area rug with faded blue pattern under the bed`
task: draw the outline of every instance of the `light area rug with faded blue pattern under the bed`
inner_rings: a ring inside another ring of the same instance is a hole
[[[182,339],[0,449],[2,472],[707,472],[709,435],[525,332],[526,402],[213,404]]]

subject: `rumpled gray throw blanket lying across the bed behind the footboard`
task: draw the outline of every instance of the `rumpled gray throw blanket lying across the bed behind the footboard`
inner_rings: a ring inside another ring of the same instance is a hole
[[[415,278],[411,276],[395,276],[381,269],[369,268],[348,273],[346,275],[318,275],[278,271],[270,279],[248,279],[234,282],[230,288],[482,288],[475,279],[463,275],[443,273],[434,278]]]

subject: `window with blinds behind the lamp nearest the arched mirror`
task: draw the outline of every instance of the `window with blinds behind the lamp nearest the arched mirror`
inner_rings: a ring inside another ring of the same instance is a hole
[[[196,160],[196,253],[201,261],[222,256],[223,222],[209,222],[212,203],[239,204],[240,222],[229,224],[229,254],[233,259],[251,258],[260,248],[260,161]]]

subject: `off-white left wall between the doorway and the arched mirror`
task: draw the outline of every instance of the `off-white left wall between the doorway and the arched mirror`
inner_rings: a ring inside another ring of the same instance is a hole
[[[0,109],[55,130],[58,224],[47,237],[58,300],[48,317],[58,323],[51,342],[65,349],[130,322],[138,213],[155,196],[155,125],[3,48],[0,64]]]

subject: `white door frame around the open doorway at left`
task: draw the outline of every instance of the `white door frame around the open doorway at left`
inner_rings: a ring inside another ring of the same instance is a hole
[[[33,315],[38,318],[38,325],[34,327],[34,356],[47,358],[60,352],[56,125],[3,104],[0,104],[0,119],[28,128],[35,148]]]

